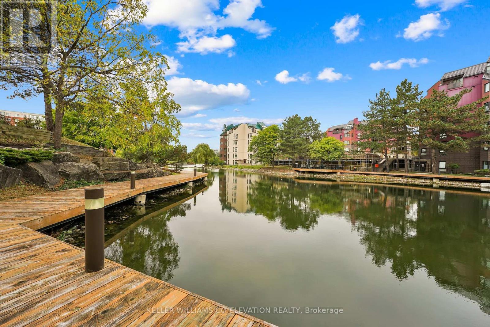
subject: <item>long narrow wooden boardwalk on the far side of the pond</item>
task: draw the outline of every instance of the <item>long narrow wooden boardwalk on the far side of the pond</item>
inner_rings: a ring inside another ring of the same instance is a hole
[[[425,178],[425,179],[439,178],[439,179],[456,180],[462,182],[490,183],[490,177],[479,177],[479,176],[376,173],[376,172],[356,172],[352,170],[342,170],[342,169],[315,169],[315,168],[293,168],[293,170],[299,173],[339,173],[339,174],[377,175],[377,176],[393,176],[393,177]]]

